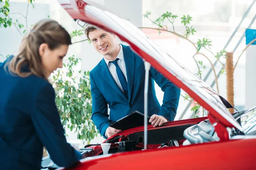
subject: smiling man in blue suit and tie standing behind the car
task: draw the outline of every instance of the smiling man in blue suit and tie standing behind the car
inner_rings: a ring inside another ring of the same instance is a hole
[[[134,110],[144,113],[144,62],[129,46],[119,44],[114,34],[90,24],[85,26],[84,31],[96,51],[103,55],[99,64],[90,71],[92,120],[100,134],[108,138],[121,132],[109,127],[111,122]],[[154,80],[164,91],[162,106],[155,94]],[[179,98],[180,89],[151,67],[148,85],[148,114],[151,116],[151,125],[156,127],[173,121]]]

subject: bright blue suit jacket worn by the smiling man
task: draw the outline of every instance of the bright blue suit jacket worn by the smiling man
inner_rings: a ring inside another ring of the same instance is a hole
[[[127,71],[129,98],[125,97],[125,94],[114,81],[104,59],[90,71],[93,100],[92,120],[100,134],[105,138],[109,123],[121,119],[134,110],[144,113],[144,62],[137,54],[131,51],[129,46],[122,45],[122,48]],[[164,91],[162,107],[155,94],[154,80]],[[148,85],[148,116],[157,114],[173,121],[179,98],[180,89],[151,67]],[[110,115],[108,115],[108,105]]]

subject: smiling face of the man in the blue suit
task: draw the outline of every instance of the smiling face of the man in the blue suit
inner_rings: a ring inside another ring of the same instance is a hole
[[[113,54],[116,50],[116,45],[118,45],[115,35],[102,29],[90,31],[88,37],[90,38],[96,51],[103,56],[111,56],[111,54]]]

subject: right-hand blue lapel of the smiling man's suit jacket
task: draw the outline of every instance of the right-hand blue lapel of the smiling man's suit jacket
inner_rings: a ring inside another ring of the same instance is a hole
[[[130,100],[131,94],[132,94],[133,82],[134,82],[135,56],[128,46],[122,45],[122,48],[123,48],[123,54],[125,59],[125,68],[126,68],[127,83],[128,83],[128,95]]]

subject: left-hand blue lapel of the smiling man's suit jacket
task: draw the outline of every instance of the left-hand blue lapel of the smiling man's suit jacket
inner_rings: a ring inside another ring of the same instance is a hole
[[[113,89],[115,89],[121,96],[123,96],[125,99],[127,99],[125,94],[121,91],[121,89],[116,84],[115,80],[113,79],[110,71],[108,70],[108,65],[107,65],[107,63],[105,62],[104,59],[102,59],[101,68],[99,68],[99,72],[100,72],[100,75],[102,75],[103,79],[105,79],[106,82],[108,82],[108,84]]]

